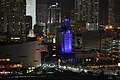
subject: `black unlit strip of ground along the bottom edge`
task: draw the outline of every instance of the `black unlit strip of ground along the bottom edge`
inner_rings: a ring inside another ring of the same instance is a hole
[[[119,76],[93,75],[92,73],[55,72],[44,74],[3,75],[0,80],[120,80]]]

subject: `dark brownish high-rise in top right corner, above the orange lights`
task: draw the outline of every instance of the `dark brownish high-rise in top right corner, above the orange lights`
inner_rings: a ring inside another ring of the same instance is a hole
[[[120,0],[109,0],[109,24],[120,29]]]

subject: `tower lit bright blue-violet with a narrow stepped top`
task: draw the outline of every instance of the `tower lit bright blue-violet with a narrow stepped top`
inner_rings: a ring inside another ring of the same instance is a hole
[[[63,54],[69,54],[72,51],[72,32],[69,19],[64,19],[64,26],[61,28],[61,51]]]

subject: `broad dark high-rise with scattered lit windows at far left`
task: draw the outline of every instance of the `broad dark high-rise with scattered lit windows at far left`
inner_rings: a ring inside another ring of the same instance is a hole
[[[24,42],[26,40],[25,0],[0,0],[1,41]]]

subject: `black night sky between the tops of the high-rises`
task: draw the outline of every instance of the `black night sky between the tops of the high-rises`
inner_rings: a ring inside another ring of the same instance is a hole
[[[55,4],[59,3],[62,10],[73,10],[74,9],[74,0],[37,0],[37,3]]]

